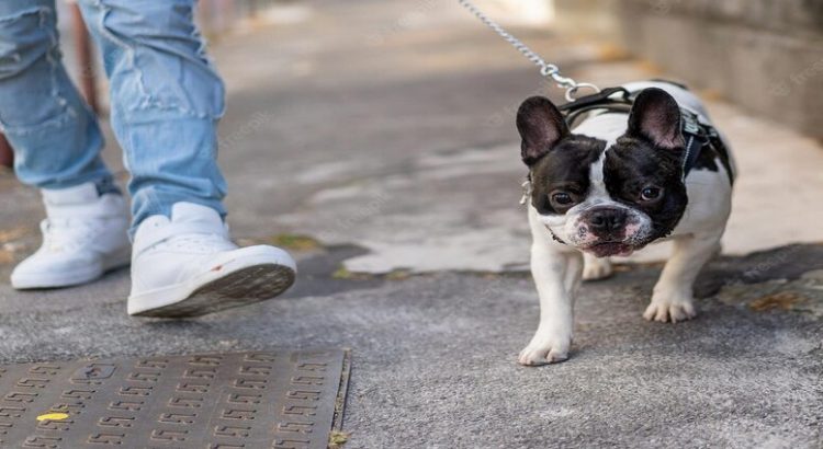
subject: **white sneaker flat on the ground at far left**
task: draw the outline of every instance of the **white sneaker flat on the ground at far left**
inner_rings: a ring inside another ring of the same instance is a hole
[[[128,265],[128,219],[122,195],[98,195],[93,183],[44,189],[43,245],[11,274],[16,289],[86,284]]]

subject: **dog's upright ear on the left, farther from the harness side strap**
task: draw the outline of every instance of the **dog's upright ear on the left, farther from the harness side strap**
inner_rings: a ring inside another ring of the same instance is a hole
[[[517,111],[517,130],[523,139],[520,157],[529,166],[570,134],[557,106],[544,96],[532,96],[520,105]]]

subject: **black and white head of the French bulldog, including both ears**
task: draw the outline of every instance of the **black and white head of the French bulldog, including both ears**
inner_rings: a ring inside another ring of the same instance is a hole
[[[686,209],[680,111],[659,89],[641,92],[625,133],[572,134],[544,97],[520,106],[531,204],[555,239],[598,257],[629,255],[670,233]]]

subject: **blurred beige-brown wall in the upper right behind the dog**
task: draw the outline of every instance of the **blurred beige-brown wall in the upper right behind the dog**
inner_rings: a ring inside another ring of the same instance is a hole
[[[555,26],[823,138],[823,0],[554,0]]]

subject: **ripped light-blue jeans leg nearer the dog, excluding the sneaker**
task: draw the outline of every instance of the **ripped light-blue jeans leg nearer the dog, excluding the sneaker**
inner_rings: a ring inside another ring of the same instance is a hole
[[[225,216],[217,166],[224,88],[193,22],[194,0],[81,0],[111,82],[112,127],[132,174],[132,233],[176,203]]]

